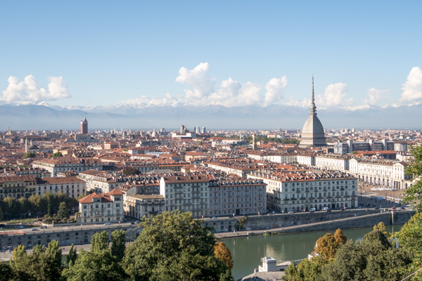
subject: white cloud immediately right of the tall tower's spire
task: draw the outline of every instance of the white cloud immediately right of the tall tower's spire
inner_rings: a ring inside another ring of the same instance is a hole
[[[336,105],[351,105],[353,103],[353,98],[345,100],[347,91],[347,84],[329,84],[326,87],[324,94],[316,95],[316,106],[330,107]]]

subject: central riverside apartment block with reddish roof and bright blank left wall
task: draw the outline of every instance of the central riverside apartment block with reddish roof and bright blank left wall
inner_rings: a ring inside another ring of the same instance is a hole
[[[165,211],[190,211],[196,218],[208,216],[208,185],[206,175],[162,176],[160,195],[165,198]]]

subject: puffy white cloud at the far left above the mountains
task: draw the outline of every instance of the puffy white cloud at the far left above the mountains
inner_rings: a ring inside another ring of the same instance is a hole
[[[20,81],[16,77],[8,78],[8,86],[3,91],[0,100],[6,103],[13,102],[40,102],[46,100],[59,100],[62,98],[72,98],[65,84],[63,77],[49,77],[48,90],[39,86],[37,80],[32,75],[28,75]]]

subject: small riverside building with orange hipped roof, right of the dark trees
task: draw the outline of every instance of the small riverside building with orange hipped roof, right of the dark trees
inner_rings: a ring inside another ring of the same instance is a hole
[[[91,193],[79,199],[79,212],[80,223],[83,224],[123,221],[123,193],[120,190],[106,194]]]

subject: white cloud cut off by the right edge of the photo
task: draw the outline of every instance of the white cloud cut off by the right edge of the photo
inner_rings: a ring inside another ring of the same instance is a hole
[[[416,105],[422,102],[422,70],[420,67],[413,67],[403,84],[403,93],[398,102],[393,106]]]

